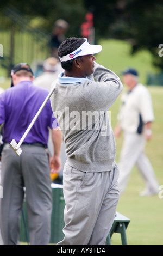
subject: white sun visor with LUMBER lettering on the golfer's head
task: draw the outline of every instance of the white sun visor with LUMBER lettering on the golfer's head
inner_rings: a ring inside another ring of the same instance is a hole
[[[68,60],[77,58],[78,56],[84,56],[84,55],[90,55],[90,54],[96,54],[98,52],[101,52],[102,46],[101,45],[90,45],[86,38],[85,42],[83,42],[82,45],[80,45],[79,48],[77,48],[75,51],[67,54],[66,56],[63,56],[60,58],[61,62],[68,62]]]

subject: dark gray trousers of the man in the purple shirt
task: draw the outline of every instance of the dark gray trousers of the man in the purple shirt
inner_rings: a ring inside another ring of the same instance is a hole
[[[45,148],[22,144],[17,156],[9,144],[2,152],[3,198],[0,227],[4,245],[16,245],[26,187],[26,207],[31,245],[47,245],[51,230],[52,190]]]

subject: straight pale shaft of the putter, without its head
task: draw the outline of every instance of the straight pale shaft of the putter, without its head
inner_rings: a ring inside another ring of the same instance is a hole
[[[34,125],[35,121],[37,120],[37,118],[39,117],[42,109],[45,107],[46,103],[48,102],[48,100],[50,99],[51,95],[53,94],[54,90],[55,90],[55,84],[56,82],[54,83],[54,86],[52,87],[51,91],[49,92],[49,94],[47,95],[45,101],[43,101],[41,107],[39,108],[39,110],[37,111],[34,119],[32,120],[32,122],[30,123],[30,125],[28,126],[26,132],[24,132],[24,135],[22,136],[22,138],[20,139],[20,142],[17,144],[16,146],[16,149],[19,149],[21,144],[23,143],[24,139],[26,138],[28,132],[30,131],[30,129],[32,128],[32,126]]]

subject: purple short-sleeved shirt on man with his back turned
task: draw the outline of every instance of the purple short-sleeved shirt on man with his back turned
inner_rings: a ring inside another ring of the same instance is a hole
[[[48,93],[30,81],[22,81],[0,94],[0,125],[4,123],[4,143],[10,143],[12,139],[17,143],[20,141]],[[23,142],[47,144],[48,127],[54,129],[57,126],[49,100]]]

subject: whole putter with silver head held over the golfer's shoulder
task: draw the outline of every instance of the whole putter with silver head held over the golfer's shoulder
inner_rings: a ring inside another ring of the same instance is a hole
[[[51,95],[53,94],[54,90],[55,90],[55,84],[56,82],[54,82],[54,86],[52,85],[52,89],[49,92],[49,94],[47,95],[45,101],[43,101],[41,107],[39,108],[39,110],[37,111],[35,117],[33,118],[32,122],[30,123],[30,125],[28,126],[27,130],[24,132],[24,135],[22,136],[22,138],[20,139],[20,142],[16,142],[15,139],[12,139],[12,141],[10,142],[10,146],[12,149],[14,149],[15,153],[20,156],[22,153],[22,149],[21,144],[23,143],[24,139],[26,138],[26,136],[28,135],[28,132],[30,131],[30,129],[32,128],[32,126],[34,125],[35,121],[37,120],[37,118],[39,117],[42,109],[45,107],[46,103],[48,102],[48,100],[50,99]]]

